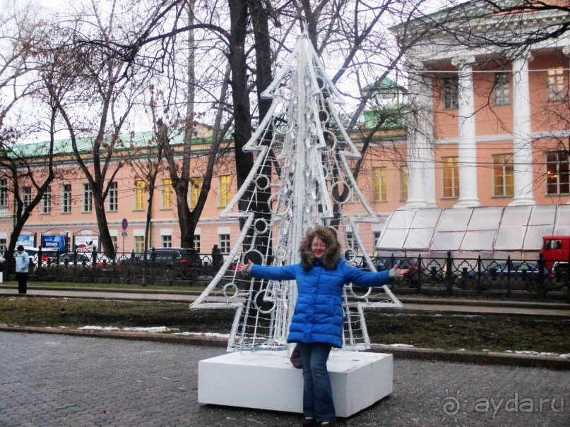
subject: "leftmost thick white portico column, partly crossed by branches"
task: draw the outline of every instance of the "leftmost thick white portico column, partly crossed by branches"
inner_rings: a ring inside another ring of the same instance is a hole
[[[417,64],[416,64],[417,65]],[[422,64],[419,67],[423,68]],[[408,200],[405,208],[427,208],[435,202],[435,182],[429,181],[433,170],[433,112],[431,78],[410,71],[408,100],[412,109],[408,123]],[[430,169],[431,168],[431,169]],[[434,174],[431,179],[434,180]],[[433,191],[433,195],[426,189]]]

